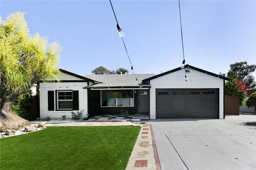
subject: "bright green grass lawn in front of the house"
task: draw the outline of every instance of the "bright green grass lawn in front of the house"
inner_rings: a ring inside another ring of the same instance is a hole
[[[0,139],[1,170],[126,169],[139,126],[47,127]]]

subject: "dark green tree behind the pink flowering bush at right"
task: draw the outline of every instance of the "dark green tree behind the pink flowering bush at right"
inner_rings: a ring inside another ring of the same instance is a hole
[[[248,89],[256,86],[254,77],[251,75],[256,69],[256,65],[248,65],[247,61],[230,64],[230,70],[227,75],[230,79],[241,79]]]

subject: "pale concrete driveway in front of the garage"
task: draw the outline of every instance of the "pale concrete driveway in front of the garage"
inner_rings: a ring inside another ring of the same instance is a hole
[[[163,170],[256,169],[256,115],[151,120]]]

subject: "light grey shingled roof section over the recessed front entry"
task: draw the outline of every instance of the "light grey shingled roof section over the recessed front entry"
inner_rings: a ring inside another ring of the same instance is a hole
[[[149,77],[154,76],[154,74],[96,74],[96,75],[85,75],[90,79],[93,79],[98,82],[93,85],[88,85],[84,88],[114,88],[114,87],[138,87],[139,83],[143,79],[148,79]],[[136,77],[138,82],[136,81]]]

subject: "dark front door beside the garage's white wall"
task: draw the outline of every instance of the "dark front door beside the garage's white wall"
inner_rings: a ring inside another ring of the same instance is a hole
[[[149,112],[149,91],[138,90],[138,113]]]

